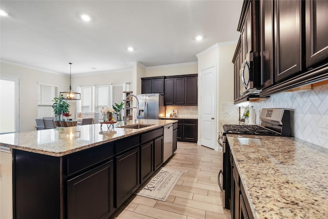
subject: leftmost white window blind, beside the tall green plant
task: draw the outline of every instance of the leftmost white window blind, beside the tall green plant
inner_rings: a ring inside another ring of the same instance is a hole
[[[54,116],[53,98],[57,96],[58,88],[53,85],[37,84],[37,117]]]

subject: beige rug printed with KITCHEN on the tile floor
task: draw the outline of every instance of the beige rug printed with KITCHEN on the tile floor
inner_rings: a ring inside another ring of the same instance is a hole
[[[165,202],[182,173],[182,171],[162,168],[144,188],[135,194]]]

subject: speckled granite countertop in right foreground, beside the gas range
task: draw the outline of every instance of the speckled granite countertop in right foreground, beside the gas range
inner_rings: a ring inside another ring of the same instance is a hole
[[[328,218],[328,149],[294,137],[227,137],[255,218]]]

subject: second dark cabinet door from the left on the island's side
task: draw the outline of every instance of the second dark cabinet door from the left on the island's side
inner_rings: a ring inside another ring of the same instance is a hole
[[[116,207],[139,187],[139,147],[116,157]]]

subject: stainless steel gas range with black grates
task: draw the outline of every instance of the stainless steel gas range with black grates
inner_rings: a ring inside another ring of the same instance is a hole
[[[223,192],[223,207],[230,209],[231,169],[229,162],[227,134],[248,134],[268,136],[290,136],[290,110],[282,108],[262,109],[258,125],[223,125],[218,142],[222,146],[223,163],[218,174],[218,183]]]

